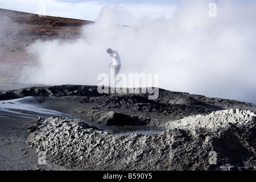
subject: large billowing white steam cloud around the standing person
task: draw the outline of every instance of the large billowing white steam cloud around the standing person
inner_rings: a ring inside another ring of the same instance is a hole
[[[122,73],[159,73],[159,87],[256,104],[256,3],[182,1],[171,18],[117,26],[120,7],[104,7],[96,23],[82,28],[75,42],[36,42],[28,49],[38,67],[20,80],[35,84],[98,85],[110,73],[107,48],[121,56]],[[128,13],[129,14],[129,13]]]

